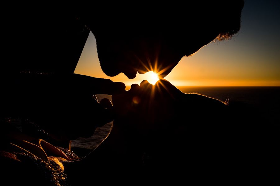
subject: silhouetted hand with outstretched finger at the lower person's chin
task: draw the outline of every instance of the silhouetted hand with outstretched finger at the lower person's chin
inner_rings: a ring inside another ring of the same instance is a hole
[[[7,103],[10,113],[43,126],[57,140],[73,140],[89,137],[96,127],[113,120],[113,113],[93,95],[115,94],[125,85],[78,74],[21,74],[15,87],[18,90],[9,95],[12,103]]]

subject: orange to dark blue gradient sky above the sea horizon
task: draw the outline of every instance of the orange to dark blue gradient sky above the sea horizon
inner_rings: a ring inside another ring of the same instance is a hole
[[[106,76],[100,68],[92,33],[75,73],[127,86],[150,76],[137,74],[132,80],[123,73]],[[196,54],[182,58],[166,79],[175,86],[280,86],[280,3],[245,0],[240,32],[229,41],[211,42]]]

